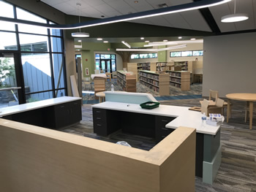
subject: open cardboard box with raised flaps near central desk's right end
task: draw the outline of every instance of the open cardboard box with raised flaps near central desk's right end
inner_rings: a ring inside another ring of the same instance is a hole
[[[223,99],[218,98],[215,105],[209,105],[210,101],[203,99],[203,102],[201,103],[201,112],[205,112],[206,116],[209,116],[209,113],[218,113],[222,115],[224,102]]]

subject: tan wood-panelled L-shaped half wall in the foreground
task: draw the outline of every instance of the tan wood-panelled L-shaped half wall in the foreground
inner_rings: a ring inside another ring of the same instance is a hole
[[[145,151],[0,119],[0,151],[0,191],[195,191],[194,128]]]

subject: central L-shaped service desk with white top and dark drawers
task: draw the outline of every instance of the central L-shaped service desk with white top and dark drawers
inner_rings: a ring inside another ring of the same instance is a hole
[[[106,101],[93,107],[94,132],[108,135],[122,129],[160,142],[179,126],[196,128],[196,170],[203,182],[212,184],[221,162],[220,126],[202,124],[202,114],[189,107],[159,105],[153,110],[139,104]]]

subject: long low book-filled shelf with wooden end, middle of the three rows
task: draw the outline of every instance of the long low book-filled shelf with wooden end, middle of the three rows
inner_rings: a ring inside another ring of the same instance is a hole
[[[156,91],[160,96],[170,94],[170,77],[167,73],[157,73],[146,70],[140,71],[140,84]]]

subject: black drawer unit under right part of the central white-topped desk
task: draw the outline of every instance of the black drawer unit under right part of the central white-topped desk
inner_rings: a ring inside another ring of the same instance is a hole
[[[161,142],[168,134],[174,131],[173,128],[165,128],[165,125],[175,118],[165,116],[155,116],[155,136],[156,142]]]

